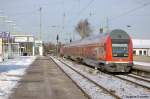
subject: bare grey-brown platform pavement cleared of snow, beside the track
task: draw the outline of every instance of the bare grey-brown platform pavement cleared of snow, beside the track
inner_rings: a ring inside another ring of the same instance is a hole
[[[9,99],[87,99],[49,57],[38,57]]]

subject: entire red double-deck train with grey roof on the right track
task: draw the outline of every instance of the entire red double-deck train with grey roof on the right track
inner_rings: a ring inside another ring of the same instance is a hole
[[[60,54],[108,72],[129,72],[133,66],[132,40],[120,29],[66,44]]]

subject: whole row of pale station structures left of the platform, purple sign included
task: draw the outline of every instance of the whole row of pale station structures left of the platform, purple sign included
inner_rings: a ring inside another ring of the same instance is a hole
[[[43,56],[43,42],[33,35],[0,32],[0,62],[17,56]]]

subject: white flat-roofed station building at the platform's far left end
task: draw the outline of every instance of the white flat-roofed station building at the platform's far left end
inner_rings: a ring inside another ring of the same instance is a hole
[[[35,40],[33,35],[13,35],[15,43],[19,44],[19,56],[43,56],[43,42]]]

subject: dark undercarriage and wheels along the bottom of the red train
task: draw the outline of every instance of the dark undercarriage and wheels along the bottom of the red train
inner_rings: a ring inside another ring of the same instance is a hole
[[[95,61],[88,58],[67,56],[67,58],[72,59],[79,63],[84,63],[94,68],[100,69],[106,72],[120,72],[120,73],[129,73],[132,70],[133,64],[131,63],[115,63],[115,62],[105,62],[105,61]]]

